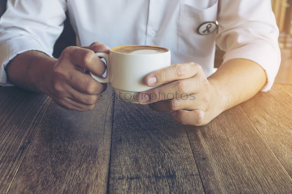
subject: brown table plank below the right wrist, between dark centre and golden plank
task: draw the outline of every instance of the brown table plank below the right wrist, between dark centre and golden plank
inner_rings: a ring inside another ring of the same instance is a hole
[[[186,129],[206,193],[292,191],[291,177],[240,106]]]

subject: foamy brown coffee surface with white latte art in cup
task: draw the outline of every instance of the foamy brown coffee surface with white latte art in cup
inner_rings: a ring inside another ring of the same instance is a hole
[[[110,49],[112,52],[119,52],[124,54],[158,54],[168,52],[169,50],[163,47],[144,46],[144,45],[127,45],[118,46]]]

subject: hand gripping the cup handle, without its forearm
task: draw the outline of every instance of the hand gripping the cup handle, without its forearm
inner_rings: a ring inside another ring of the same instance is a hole
[[[106,89],[106,84],[94,80],[86,74],[90,70],[95,75],[105,72],[105,64],[95,52],[109,52],[109,47],[92,43],[88,47],[67,47],[55,61],[53,70],[47,75],[44,91],[61,107],[77,111],[93,109],[98,96]]]

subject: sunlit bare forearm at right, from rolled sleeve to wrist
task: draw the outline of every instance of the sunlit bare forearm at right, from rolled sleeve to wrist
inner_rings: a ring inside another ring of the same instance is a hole
[[[253,97],[266,83],[265,70],[248,59],[231,59],[208,77],[223,111]]]

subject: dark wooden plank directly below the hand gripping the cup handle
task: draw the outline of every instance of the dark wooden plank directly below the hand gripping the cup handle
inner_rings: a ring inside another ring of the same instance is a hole
[[[107,97],[87,112],[52,102],[9,193],[106,193],[113,114]]]

